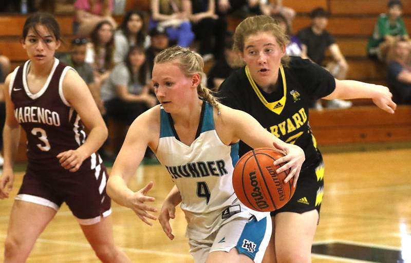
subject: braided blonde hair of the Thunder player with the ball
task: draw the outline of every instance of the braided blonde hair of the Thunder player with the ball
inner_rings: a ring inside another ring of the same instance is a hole
[[[204,62],[202,57],[188,48],[180,46],[173,46],[161,51],[154,58],[154,64],[175,62],[186,77],[191,77],[194,74],[199,74],[201,77],[200,84],[197,86],[198,95],[210,103],[213,107],[218,107],[218,100],[213,96],[213,91],[202,85],[202,78],[204,75]]]

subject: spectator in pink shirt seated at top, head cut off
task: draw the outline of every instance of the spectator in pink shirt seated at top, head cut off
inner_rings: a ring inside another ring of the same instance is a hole
[[[74,3],[73,34],[88,37],[101,21],[108,21],[113,28],[117,23],[111,16],[113,0],[76,0]]]

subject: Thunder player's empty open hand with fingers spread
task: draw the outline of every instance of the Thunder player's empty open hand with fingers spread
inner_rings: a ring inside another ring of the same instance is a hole
[[[153,182],[151,181],[144,188],[131,195],[127,200],[127,207],[131,208],[141,221],[145,222],[148,226],[153,226],[153,223],[148,221],[148,219],[157,220],[157,217],[147,212],[157,212],[157,208],[144,205],[144,202],[154,202],[156,200],[154,197],[146,196],[152,188]]]

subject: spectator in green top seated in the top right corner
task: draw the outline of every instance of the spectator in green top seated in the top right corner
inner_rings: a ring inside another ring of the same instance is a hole
[[[402,3],[400,0],[390,0],[387,13],[380,14],[368,44],[367,54],[371,58],[386,61],[386,55],[394,42],[400,38],[408,39],[407,29],[401,17]]]

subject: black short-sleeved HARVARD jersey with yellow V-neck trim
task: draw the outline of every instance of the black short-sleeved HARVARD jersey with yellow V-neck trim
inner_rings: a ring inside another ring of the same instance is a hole
[[[246,66],[221,84],[218,96],[222,104],[249,113],[278,138],[300,146],[306,156],[303,167],[307,167],[320,159],[308,123],[308,109],[313,100],[329,95],[334,89],[335,79],[328,71],[308,59],[291,57],[289,65],[279,69],[274,92],[261,90]],[[249,150],[240,141],[239,156]]]

